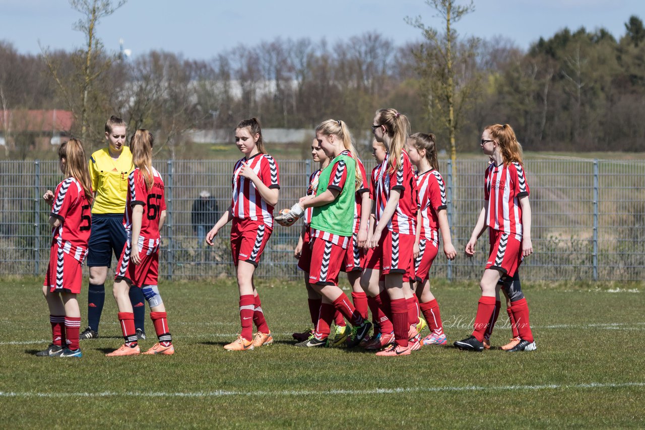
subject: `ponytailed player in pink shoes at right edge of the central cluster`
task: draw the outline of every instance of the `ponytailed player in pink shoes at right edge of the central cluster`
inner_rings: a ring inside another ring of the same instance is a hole
[[[430,325],[430,335],[423,338],[424,345],[445,345],[441,313],[437,299],[430,291],[430,266],[439,252],[439,230],[443,239],[443,251],[448,260],[457,255],[452,246],[448,214],[446,213],[446,185],[437,171],[437,146],[435,135],[414,133],[408,139],[408,155],[417,168],[417,189],[421,210],[417,217],[419,224],[414,244],[415,275],[419,306]]]

